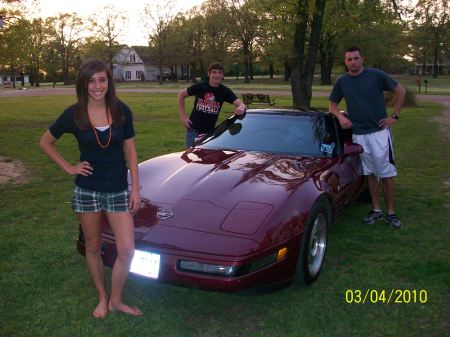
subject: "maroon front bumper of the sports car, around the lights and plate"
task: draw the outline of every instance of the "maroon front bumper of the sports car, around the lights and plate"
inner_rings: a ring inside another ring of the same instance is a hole
[[[301,238],[296,237],[289,242],[283,243],[280,247],[287,247],[288,254],[279,260],[268,264],[262,264],[257,269],[249,268],[260,261],[267,260],[267,256],[273,254],[278,248],[271,252],[260,252],[245,258],[221,258],[220,256],[211,257],[209,255],[193,254],[180,252],[170,249],[158,249],[139,245],[136,243],[136,249],[148,251],[160,255],[159,274],[157,279],[147,278],[131,273],[133,277],[149,282],[159,282],[176,286],[192,287],[219,292],[237,292],[237,293],[263,293],[274,291],[289,285],[294,277],[297,256],[299,252],[299,243]],[[277,246],[278,247],[278,246]],[[78,252],[85,255],[84,237],[80,231],[77,241]],[[117,251],[113,237],[103,235],[102,237],[102,258],[106,266],[114,266]],[[180,261],[195,261],[201,264],[233,266],[233,276],[214,275],[205,272],[195,272],[183,270],[180,268]]]

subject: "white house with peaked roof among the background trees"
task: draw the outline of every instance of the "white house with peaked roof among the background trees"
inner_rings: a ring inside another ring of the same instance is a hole
[[[170,68],[164,67],[163,79],[171,73]],[[113,75],[116,81],[158,81],[159,69],[133,47],[124,47],[113,57]]]

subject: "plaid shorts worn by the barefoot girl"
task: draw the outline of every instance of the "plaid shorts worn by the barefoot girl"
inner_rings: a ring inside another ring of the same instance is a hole
[[[130,192],[96,192],[75,185],[72,196],[72,208],[75,212],[128,212]]]

